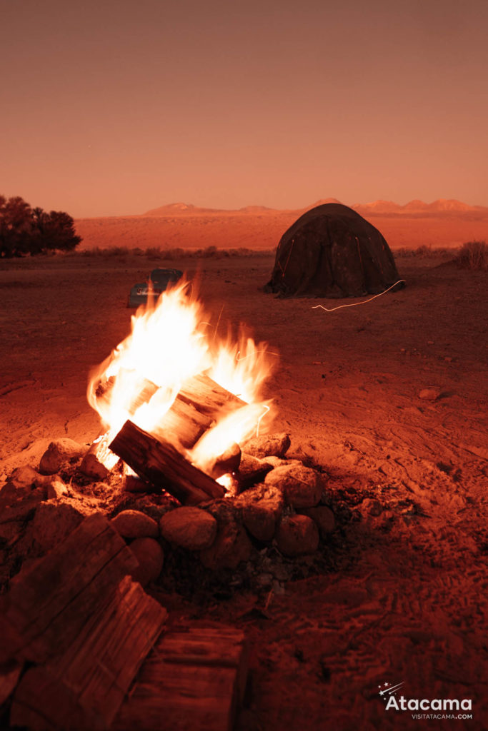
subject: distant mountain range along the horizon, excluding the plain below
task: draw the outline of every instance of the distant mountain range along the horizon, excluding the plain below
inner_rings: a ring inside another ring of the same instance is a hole
[[[324,203],[340,203],[337,198],[326,198],[318,200],[312,205],[307,205],[306,208],[297,209],[296,211],[282,211],[276,208],[266,208],[264,205],[247,205],[244,208],[239,208],[234,211],[222,208],[198,208],[196,205],[191,203],[170,203],[168,205],[159,206],[159,208],[151,208],[151,211],[140,214],[141,216],[150,217],[171,217],[171,216],[201,216],[205,214],[219,213],[221,216],[225,215],[236,215],[240,213],[243,215],[268,215],[268,214],[279,214],[279,213],[302,213],[309,211],[310,208],[315,208],[317,205],[323,205]],[[439,198],[432,203],[424,203],[422,200],[410,200],[405,205],[399,205],[391,200],[375,200],[371,203],[357,203],[351,205],[355,211],[361,214],[361,216],[435,216],[435,215],[462,215],[469,213],[478,213],[488,216],[488,208],[484,205],[468,205],[460,200],[444,199]]]

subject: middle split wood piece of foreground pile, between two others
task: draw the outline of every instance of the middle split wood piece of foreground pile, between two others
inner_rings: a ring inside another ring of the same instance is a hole
[[[108,728],[166,616],[140,584],[124,577],[110,603],[87,618],[64,654],[23,676],[10,723],[34,729]]]

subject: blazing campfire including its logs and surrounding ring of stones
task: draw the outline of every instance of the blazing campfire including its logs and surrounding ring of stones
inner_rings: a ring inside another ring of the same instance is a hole
[[[168,558],[183,550],[215,571],[250,558],[272,587],[263,552],[309,556],[328,539],[334,514],[323,473],[289,457],[288,434],[269,433],[266,379],[277,354],[242,326],[235,339],[220,338],[219,321],[188,282],[132,316],[129,335],[89,378],[100,433],[88,450],[55,439],[36,469],[18,468],[1,489],[0,535],[29,547],[18,556],[12,549],[12,567],[93,512],[135,553],[143,586],[163,566],[171,572]],[[12,522],[19,501],[34,520]]]

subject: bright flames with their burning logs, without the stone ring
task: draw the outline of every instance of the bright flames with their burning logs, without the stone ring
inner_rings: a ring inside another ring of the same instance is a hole
[[[267,344],[244,330],[219,341],[191,289],[181,284],[140,308],[130,335],[91,374],[88,399],[103,431],[84,465],[103,477],[121,458],[127,476],[183,504],[224,496],[241,446],[271,423],[261,398]]]

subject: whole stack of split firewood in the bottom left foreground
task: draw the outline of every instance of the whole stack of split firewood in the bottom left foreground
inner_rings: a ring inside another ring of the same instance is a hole
[[[167,612],[132,580],[137,568],[95,514],[12,580],[0,605],[11,727],[156,731],[164,718],[175,731],[230,731],[247,675],[242,633],[163,632]]]

